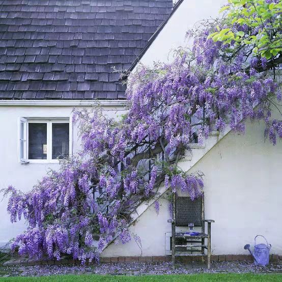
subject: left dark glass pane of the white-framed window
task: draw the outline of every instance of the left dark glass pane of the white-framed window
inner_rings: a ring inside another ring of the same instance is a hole
[[[29,159],[47,159],[46,123],[29,123]]]

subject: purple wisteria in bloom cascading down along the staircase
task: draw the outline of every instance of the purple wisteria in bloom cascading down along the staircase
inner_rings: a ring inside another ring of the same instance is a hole
[[[271,119],[270,110],[281,94],[273,79],[259,73],[265,59],[208,39],[214,28],[191,31],[192,49],[179,49],[172,63],[137,68],[128,78],[127,113],[119,120],[101,108],[74,110],[81,152],[29,193],[6,190],[11,221],[23,216],[29,224],[13,249],[36,259],[68,254],[82,263],[98,261],[111,242],[139,242],[128,229],[131,215],[160,185],[191,199],[202,195],[203,174],[178,167],[191,143],[203,143],[211,130],[228,125],[243,132],[248,118],[265,121],[273,144],[282,137],[282,123]],[[158,202],[154,207],[159,213]]]

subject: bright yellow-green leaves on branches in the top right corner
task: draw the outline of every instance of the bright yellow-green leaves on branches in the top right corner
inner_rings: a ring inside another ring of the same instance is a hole
[[[256,55],[267,60],[275,57],[282,49],[281,12],[282,2],[267,3],[265,0],[229,0],[229,5],[220,9],[227,12],[225,18],[230,26],[209,35],[213,41],[230,43],[236,46],[248,45]],[[244,30],[233,33],[233,25],[244,25]],[[255,32],[255,34],[254,34]]]

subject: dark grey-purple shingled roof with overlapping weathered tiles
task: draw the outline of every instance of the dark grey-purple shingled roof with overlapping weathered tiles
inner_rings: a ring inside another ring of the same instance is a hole
[[[0,99],[123,99],[172,0],[0,0]]]

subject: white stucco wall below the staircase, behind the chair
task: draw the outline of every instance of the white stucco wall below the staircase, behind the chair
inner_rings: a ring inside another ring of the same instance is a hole
[[[205,217],[215,220],[214,255],[247,254],[243,246],[253,245],[257,234],[272,244],[271,253],[282,254],[282,141],[273,146],[263,134],[263,123],[248,122],[244,135],[230,132],[190,170],[205,174]],[[150,207],[130,228],[142,239],[143,256],[165,255],[171,225],[167,202],[161,205],[159,215]],[[108,246],[103,256],[140,256],[140,250],[132,240]]]

